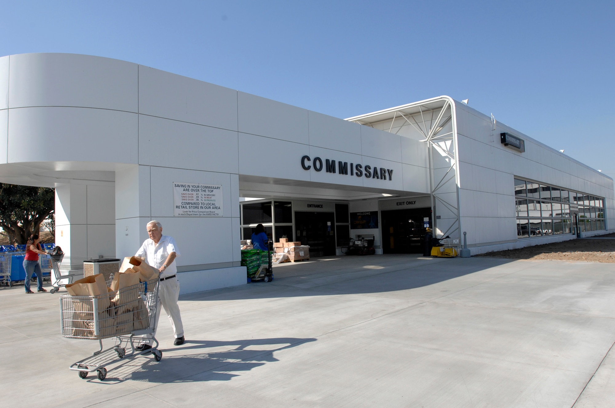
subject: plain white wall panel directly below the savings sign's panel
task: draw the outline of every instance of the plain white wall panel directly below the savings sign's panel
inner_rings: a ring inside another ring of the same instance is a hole
[[[178,266],[232,262],[232,246],[239,246],[239,241],[233,241],[230,217],[159,217],[157,221],[164,235],[177,241]]]

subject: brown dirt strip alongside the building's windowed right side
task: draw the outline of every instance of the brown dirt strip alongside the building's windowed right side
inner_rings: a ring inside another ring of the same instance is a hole
[[[615,233],[600,235],[596,238],[581,238],[476,256],[512,259],[557,259],[560,261],[609,262],[615,264]]]

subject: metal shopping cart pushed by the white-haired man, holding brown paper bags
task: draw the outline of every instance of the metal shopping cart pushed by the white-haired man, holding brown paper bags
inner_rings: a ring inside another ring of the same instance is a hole
[[[97,371],[98,379],[104,380],[105,366],[121,359],[153,353],[154,359],[160,361],[162,351],[154,337],[159,313],[158,282],[156,278],[100,296],[60,296],[62,337],[100,343],[100,349],[92,356],[77,361],[69,369],[78,371],[82,379]],[[143,334],[151,335],[154,342],[146,351],[137,350],[148,340],[135,337]],[[112,337],[113,347],[103,350],[102,340]]]

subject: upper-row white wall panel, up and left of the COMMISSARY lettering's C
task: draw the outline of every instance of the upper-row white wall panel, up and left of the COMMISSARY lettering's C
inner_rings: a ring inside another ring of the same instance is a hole
[[[237,104],[240,132],[309,143],[307,109],[244,92],[237,92]]]

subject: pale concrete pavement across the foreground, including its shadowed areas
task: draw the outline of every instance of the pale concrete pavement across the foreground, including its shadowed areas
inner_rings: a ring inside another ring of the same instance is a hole
[[[275,275],[181,297],[186,343],[173,346],[162,316],[162,361],[109,364],[104,382],[68,370],[97,343],[60,336],[58,294],[2,288],[2,401],[615,406],[613,264],[391,255],[282,264]]]

